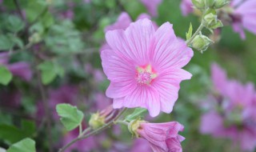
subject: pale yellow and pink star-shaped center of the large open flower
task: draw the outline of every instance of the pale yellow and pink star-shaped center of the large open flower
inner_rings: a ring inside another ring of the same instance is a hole
[[[137,70],[136,80],[138,84],[150,85],[152,80],[157,77],[157,74],[154,74],[152,67],[150,65],[146,67],[138,66],[136,70]]]

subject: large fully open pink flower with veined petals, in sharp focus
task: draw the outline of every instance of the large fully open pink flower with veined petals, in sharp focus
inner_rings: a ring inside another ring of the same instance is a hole
[[[178,98],[179,83],[190,79],[182,70],[193,51],[179,41],[166,22],[154,30],[149,19],[131,23],[126,30],[106,33],[109,50],[102,50],[102,67],[110,80],[106,96],[114,108],[144,107],[152,117],[170,113]]]

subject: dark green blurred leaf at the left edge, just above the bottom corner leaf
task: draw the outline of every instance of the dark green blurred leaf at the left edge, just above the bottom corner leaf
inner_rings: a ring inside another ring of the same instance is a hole
[[[9,144],[18,142],[22,138],[32,137],[35,132],[34,122],[22,120],[21,128],[13,125],[0,124],[0,138]]]

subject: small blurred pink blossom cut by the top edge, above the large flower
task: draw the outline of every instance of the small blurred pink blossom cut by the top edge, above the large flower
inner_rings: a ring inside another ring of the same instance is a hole
[[[141,0],[141,2],[153,17],[158,16],[158,6],[162,0]]]

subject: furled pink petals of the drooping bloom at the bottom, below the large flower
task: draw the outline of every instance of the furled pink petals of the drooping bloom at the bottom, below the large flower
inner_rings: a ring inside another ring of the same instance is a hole
[[[137,130],[140,138],[145,138],[155,152],[182,152],[181,143],[185,138],[178,134],[183,130],[178,122],[141,123]]]

